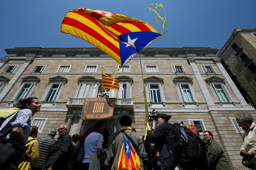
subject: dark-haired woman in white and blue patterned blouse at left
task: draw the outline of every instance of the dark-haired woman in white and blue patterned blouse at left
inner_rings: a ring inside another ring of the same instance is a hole
[[[28,136],[31,131],[32,116],[36,112],[39,112],[40,107],[42,106],[36,97],[29,97],[25,100],[21,99],[19,102],[21,105],[20,108],[22,110],[16,112],[15,114],[7,118],[0,127],[1,130],[5,126],[8,126],[5,132],[10,131],[10,133],[3,138],[14,139],[17,141],[19,145],[19,154],[17,154],[16,159],[12,160],[12,163],[11,165],[9,165],[9,167],[18,167],[21,162],[28,160],[28,154],[26,153],[28,147],[25,146],[25,144],[28,141]],[[15,115],[17,115],[16,119],[8,125],[7,123]]]

